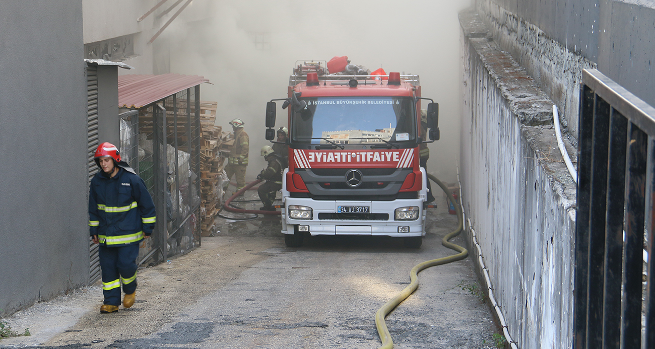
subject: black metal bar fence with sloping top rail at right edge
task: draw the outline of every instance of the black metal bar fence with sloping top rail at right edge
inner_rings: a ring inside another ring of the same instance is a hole
[[[655,348],[655,109],[584,70],[578,136],[574,343]],[[645,243],[645,240],[647,243]]]

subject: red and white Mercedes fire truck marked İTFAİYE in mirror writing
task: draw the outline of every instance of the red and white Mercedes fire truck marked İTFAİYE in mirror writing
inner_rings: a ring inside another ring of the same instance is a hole
[[[432,140],[421,138],[421,100],[430,101]],[[394,236],[421,247],[428,179],[419,145],[439,139],[439,105],[421,97],[419,77],[328,75],[320,62],[303,62],[290,77],[288,97],[267,103],[271,141],[275,101],[288,109],[286,245],[299,247],[311,234]]]

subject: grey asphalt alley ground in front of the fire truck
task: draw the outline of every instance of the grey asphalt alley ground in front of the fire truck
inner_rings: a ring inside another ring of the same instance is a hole
[[[409,284],[409,270],[456,253],[441,238],[457,218],[437,202],[420,249],[371,236],[311,236],[292,249],[279,217],[219,218],[200,248],[140,270],[132,308],[100,314],[100,287],[86,287],[6,319],[32,335],[0,348],[378,348],[375,312]],[[386,317],[394,348],[496,348],[473,270],[468,257],[420,272],[417,291]]]

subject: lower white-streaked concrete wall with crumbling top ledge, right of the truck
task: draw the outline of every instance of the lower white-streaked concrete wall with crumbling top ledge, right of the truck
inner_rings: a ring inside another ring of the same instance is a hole
[[[464,210],[519,348],[569,348],[576,187],[550,124],[553,102],[481,16],[461,12],[460,25]]]

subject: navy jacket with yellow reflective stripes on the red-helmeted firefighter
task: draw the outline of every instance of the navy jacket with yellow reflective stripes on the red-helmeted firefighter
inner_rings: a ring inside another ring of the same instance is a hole
[[[107,247],[138,244],[155,228],[153,198],[136,174],[119,168],[114,177],[99,172],[88,195],[88,225]]]

